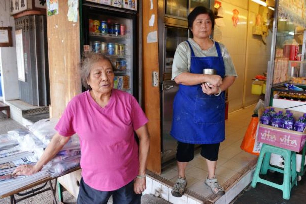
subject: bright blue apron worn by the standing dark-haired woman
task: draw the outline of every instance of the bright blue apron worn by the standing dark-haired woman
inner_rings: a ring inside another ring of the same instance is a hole
[[[216,69],[217,75],[225,75],[220,46],[215,42],[218,57],[196,57],[190,43],[190,73],[203,74],[203,69]],[[201,84],[180,84],[173,102],[173,118],[170,131],[183,143],[214,144],[225,139],[225,92],[219,96],[207,95]]]

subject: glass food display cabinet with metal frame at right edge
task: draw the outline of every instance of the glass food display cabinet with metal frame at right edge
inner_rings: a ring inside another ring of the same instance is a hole
[[[304,7],[304,0],[275,0],[265,106],[306,112]]]

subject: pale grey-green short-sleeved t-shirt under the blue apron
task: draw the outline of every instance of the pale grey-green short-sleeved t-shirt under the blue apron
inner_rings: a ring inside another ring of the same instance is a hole
[[[196,57],[217,57],[217,49],[214,45],[208,50],[202,50],[201,47],[191,38],[188,39],[193,52]],[[238,76],[233,64],[230,54],[226,50],[225,46],[219,43],[224,66],[225,66],[225,76]],[[183,72],[190,71],[190,59],[191,59],[191,49],[188,43],[182,42],[177,46],[177,49],[174,54],[173,64],[172,64],[172,80]]]

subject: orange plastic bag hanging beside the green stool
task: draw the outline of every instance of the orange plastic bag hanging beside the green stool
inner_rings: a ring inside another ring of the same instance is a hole
[[[254,152],[254,144],[256,141],[256,132],[258,126],[258,117],[252,117],[248,129],[245,132],[244,138],[240,145],[240,148],[248,153],[259,155],[259,153]]]

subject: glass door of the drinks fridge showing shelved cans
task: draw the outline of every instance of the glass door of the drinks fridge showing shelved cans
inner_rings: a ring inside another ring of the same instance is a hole
[[[101,12],[103,13],[103,12]],[[89,47],[114,64],[114,88],[132,94],[132,19],[90,14]]]

